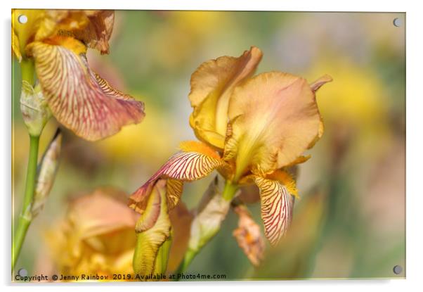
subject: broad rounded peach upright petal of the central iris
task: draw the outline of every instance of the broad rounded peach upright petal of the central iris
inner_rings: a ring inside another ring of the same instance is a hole
[[[320,115],[306,80],[282,72],[257,75],[235,88],[229,103],[224,159],[235,181],[247,169],[265,175],[296,160],[318,134]]]

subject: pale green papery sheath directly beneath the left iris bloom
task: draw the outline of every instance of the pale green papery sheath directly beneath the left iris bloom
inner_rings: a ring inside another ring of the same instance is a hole
[[[39,84],[34,88],[29,82],[22,80],[20,111],[30,135],[39,136],[48,119],[51,118],[51,111]]]

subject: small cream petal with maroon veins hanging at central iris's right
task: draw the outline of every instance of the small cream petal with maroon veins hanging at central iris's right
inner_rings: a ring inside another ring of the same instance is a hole
[[[287,188],[276,180],[257,176],[255,182],[260,189],[264,234],[275,245],[291,224],[294,200]]]

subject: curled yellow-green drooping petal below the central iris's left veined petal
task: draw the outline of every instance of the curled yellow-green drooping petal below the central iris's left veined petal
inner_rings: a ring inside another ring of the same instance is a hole
[[[148,224],[145,224],[145,220]],[[136,224],[134,272],[147,276],[155,271],[157,252],[170,236],[171,222],[167,209],[166,186],[159,180],[152,187],[145,212]]]

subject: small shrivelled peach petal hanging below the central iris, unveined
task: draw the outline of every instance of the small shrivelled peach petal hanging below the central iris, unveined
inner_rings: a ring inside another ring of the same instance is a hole
[[[263,259],[265,247],[260,227],[254,222],[245,205],[236,205],[233,210],[239,217],[238,227],[233,231],[233,236],[249,261],[258,266]]]

